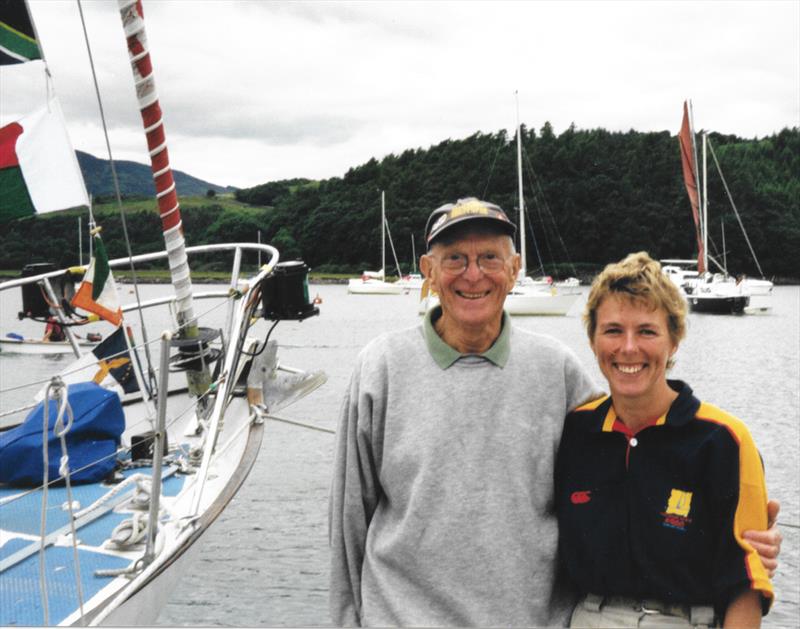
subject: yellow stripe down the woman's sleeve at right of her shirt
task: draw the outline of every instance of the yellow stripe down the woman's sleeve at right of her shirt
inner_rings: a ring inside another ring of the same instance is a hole
[[[756,444],[744,422],[713,404],[703,402],[697,411],[697,419],[723,426],[739,445],[739,503],[733,519],[733,533],[746,553],[745,568],[751,589],[760,590],[771,601],[774,594],[769,575],[758,553],[742,537],[744,531],[767,528],[767,487]]]

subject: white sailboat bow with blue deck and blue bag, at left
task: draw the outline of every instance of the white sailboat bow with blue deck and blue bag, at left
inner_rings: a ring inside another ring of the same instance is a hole
[[[185,246],[141,3],[121,0],[119,8],[166,250],[117,260],[96,254],[83,269],[90,301],[76,307],[102,305],[103,317],[120,317],[121,325],[73,365],[29,383],[26,405],[8,403],[22,387],[2,391],[3,416],[21,420],[0,432],[3,626],[152,624],[198,541],[247,477],[265,420],[324,382],[321,373],[282,366],[270,340],[278,322],[318,314],[305,265],[280,263],[270,245]],[[248,252],[267,261],[245,279]],[[195,292],[189,255],[220,253],[232,257],[230,287]],[[112,269],[164,260],[174,295],[143,301],[137,294],[133,304],[112,306]],[[0,291],[41,287],[58,307],[53,284],[69,275],[32,274],[3,282]],[[201,325],[206,312],[195,303],[207,299],[225,306],[221,326]],[[149,341],[142,313],[154,308],[168,308],[163,318],[173,325]],[[136,315],[141,336],[132,339]]]

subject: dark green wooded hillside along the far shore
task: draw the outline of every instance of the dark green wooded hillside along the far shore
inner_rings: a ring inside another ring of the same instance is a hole
[[[761,139],[720,134],[710,139],[764,274],[797,278],[800,130],[784,129]],[[262,242],[275,245],[283,259],[302,258],[316,271],[377,270],[383,190],[392,241],[407,273],[412,250],[417,257],[424,250],[429,213],[443,203],[477,196],[519,220],[515,140],[504,130],[475,133],[370,159],[343,177],[272,181],[237,190],[236,204],[203,198],[184,204],[187,241],[252,242],[260,232]],[[696,255],[674,135],[574,126],[557,135],[545,123],[538,131],[523,127],[522,140],[527,266],[532,274],[585,278],[639,250],[656,258]],[[758,275],[711,162],[708,190],[711,253],[724,259],[732,273]],[[163,248],[152,210],[128,212],[127,221],[134,252]],[[102,222],[109,254],[126,255],[119,217],[109,212]],[[74,216],[18,221],[6,226],[1,239],[0,268],[41,260],[74,264],[76,239]],[[388,253],[387,273],[393,272],[392,260]]]

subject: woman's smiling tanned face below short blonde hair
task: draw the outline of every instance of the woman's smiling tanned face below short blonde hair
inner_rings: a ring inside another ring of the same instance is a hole
[[[655,407],[669,395],[667,363],[678,345],[670,337],[663,309],[609,295],[597,308],[591,345],[615,399]]]

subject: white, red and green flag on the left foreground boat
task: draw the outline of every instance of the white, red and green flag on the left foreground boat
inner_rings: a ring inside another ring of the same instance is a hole
[[[0,128],[0,222],[89,205],[58,100]]]

